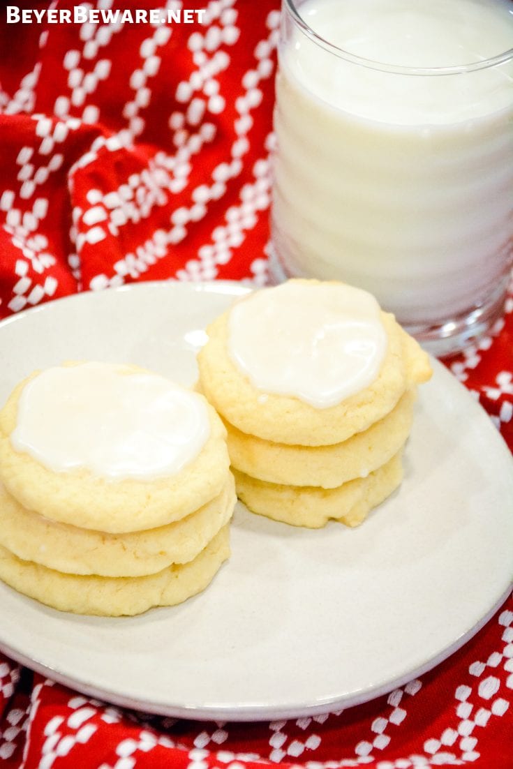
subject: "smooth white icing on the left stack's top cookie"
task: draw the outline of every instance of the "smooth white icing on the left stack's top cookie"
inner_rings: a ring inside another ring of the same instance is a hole
[[[84,363],[48,368],[25,385],[11,443],[55,472],[145,481],[178,473],[209,434],[197,394],[126,366]]]

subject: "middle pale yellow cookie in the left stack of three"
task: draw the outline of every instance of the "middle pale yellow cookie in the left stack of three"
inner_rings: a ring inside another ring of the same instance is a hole
[[[192,561],[232,518],[232,473],[221,494],[175,523],[131,534],[105,534],[56,523],[22,508],[0,488],[0,544],[23,561],[68,574],[140,577]]]

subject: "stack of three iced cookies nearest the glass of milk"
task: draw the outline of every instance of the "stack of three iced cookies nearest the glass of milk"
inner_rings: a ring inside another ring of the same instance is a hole
[[[239,498],[258,514],[356,526],[401,483],[428,356],[365,291],[293,280],[208,328],[198,388],[221,415]]]

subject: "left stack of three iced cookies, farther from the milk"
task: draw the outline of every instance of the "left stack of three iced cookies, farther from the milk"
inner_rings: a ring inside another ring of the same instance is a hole
[[[109,616],[202,591],[229,554],[225,436],[205,398],[148,371],[36,372],[0,412],[0,578]]]

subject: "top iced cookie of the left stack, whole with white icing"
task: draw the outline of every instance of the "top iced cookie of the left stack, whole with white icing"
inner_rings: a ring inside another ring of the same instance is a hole
[[[36,372],[0,411],[0,480],[22,507],[108,533],[178,521],[225,486],[225,427],[201,395],[148,371]]]

